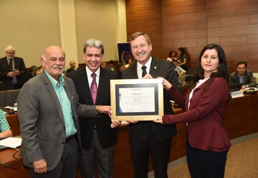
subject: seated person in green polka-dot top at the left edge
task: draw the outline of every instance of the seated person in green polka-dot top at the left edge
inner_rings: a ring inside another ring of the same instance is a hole
[[[6,139],[11,136],[12,131],[10,131],[4,112],[0,109],[0,139]]]

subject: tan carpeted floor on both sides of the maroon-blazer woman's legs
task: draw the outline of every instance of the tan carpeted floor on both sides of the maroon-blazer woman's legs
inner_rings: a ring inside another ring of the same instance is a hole
[[[190,178],[187,163],[169,170],[168,177]],[[224,177],[258,178],[258,138],[230,147]]]

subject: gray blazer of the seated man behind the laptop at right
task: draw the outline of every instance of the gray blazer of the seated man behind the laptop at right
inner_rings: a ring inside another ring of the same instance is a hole
[[[238,71],[235,71],[230,74],[229,76],[229,84],[236,84],[240,83],[239,77],[238,77]],[[245,71],[245,76],[244,76],[244,84],[243,85],[248,85],[249,87],[256,87],[257,82],[254,78],[253,72],[250,70]]]

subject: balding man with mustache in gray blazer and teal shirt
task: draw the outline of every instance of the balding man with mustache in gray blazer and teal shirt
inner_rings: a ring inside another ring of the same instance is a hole
[[[61,75],[65,53],[60,47],[47,47],[41,63],[44,71],[23,85],[17,99],[23,164],[33,178],[76,177],[81,148],[78,117],[110,114],[110,106],[79,103],[73,81]]]

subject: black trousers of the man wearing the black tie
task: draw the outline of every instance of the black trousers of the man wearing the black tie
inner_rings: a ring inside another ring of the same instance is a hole
[[[171,140],[165,142],[158,142],[149,129],[149,138],[146,142],[137,142],[130,139],[133,164],[134,164],[134,177],[147,178],[148,177],[148,164],[149,152],[151,153],[155,177],[167,178],[168,159],[170,156]]]

